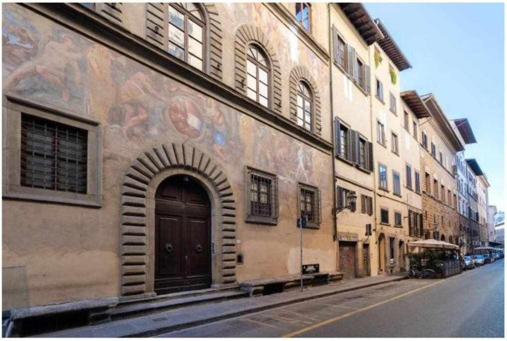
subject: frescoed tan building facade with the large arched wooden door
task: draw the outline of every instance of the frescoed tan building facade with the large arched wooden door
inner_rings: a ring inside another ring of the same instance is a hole
[[[85,5],[3,7],[4,308],[335,271],[327,23]]]

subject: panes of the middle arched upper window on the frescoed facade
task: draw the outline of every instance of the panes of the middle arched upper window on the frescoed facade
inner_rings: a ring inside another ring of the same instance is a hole
[[[248,46],[246,53],[246,95],[269,107],[270,66],[263,51],[256,45]]]

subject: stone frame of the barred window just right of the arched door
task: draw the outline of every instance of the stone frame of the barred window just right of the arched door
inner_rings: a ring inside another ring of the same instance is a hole
[[[272,212],[270,217],[259,216],[251,213],[251,175],[255,174],[259,177],[271,180],[270,191],[272,200]],[[257,223],[266,225],[277,225],[279,215],[279,204],[278,204],[278,176],[276,174],[265,172],[257,168],[245,166],[245,222]]]

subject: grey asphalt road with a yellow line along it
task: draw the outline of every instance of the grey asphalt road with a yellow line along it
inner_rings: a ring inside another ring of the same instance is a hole
[[[388,283],[158,336],[503,337],[503,264],[499,260],[445,280]]]

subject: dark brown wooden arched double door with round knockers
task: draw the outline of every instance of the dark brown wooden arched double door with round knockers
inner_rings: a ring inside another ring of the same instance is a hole
[[[164,180],[155,195],[155,291],[211,286],[210,202],[189,176]]]

